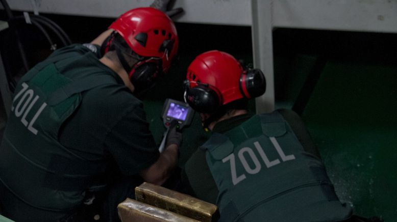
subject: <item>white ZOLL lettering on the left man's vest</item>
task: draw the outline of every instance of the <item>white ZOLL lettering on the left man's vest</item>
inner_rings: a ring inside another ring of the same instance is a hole
[[[33,124],[36,122],[37,118],[40,116],[41,112],[43,111],[43,109],[45,108],[45,106],[47,105],[47,103],[43,102],[40,106],[40,108],[37,110],[37,112],[34,114],[32,120],[30,120],[30,122],[28,122],[28,120],[26,120],[26,117],[28,116],[28,114],[31,112],[32,107],[34,106],[34,104],[37,102],[37,100],[40,98],[38,95],[35,96],[35,98],[33,99],[33,101],[31,102],[33,96],[34,96],[34,91],[32,89],[29,89],[29,85],[26,84],[25,82],[22,82],[22,89],[21,91],[19,91],[13,100],[13,103],[16,101],[16,99],[18,99],[22,94],[21,99],[19,100],[19,102],[17,103],[16,107],[14,108],[14,104],[12,104],[11,106],[11,112],[14,112],[15,110],[15,116],[16,117],[20,117],[22,114],[22,118],[21,118],[21,123],[28,127],[28,130],[31,131],[33,134],[37,135],[37,129],[35,129],[33,127]],[[27,108],[28,107],[28,108]]]

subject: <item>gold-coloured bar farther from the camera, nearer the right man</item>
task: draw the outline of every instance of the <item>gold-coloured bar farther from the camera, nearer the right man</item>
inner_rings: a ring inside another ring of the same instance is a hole
[[[218,219],[216,205],[151,183],[144,182],[135,187],[135,199],[198,221]]]

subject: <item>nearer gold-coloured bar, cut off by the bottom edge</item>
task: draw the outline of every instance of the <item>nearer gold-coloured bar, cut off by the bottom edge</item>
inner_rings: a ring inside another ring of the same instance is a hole
[[[122,222],[199,222],[198,220],[188,218],[158,207],[154,207],[136,200],[127,198],[118,206],[118,216]]]

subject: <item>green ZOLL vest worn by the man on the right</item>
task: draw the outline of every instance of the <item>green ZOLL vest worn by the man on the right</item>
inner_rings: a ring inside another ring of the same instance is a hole
[[[352,214],[322,162],[304,152],[277,111],[214,133],[202,149],[221,221],[340,221]]]

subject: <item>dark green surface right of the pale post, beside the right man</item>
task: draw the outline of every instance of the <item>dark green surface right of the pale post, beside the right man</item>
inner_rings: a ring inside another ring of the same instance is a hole
[[[313,87],[302,118],[339,198],[362,216],[397,221],[397,35],[277,30],[276,106]],[[306,86],[317,59],[318,81]],[[296,104],[295,104],[296,105]]]

